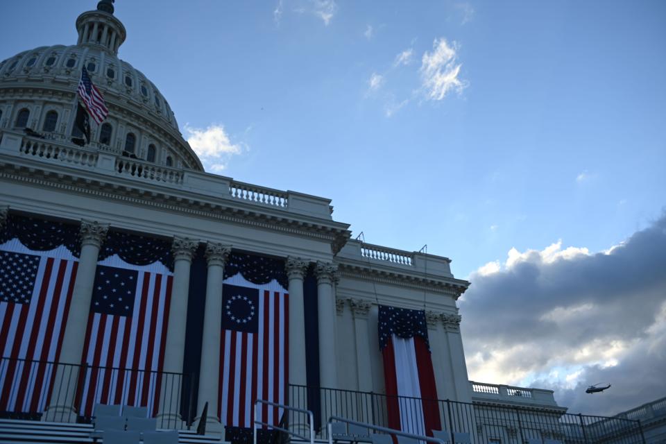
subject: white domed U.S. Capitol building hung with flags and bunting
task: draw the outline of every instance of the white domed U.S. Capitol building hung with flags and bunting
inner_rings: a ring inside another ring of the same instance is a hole
[[[314,411],[320,436],[332,415],[479,443],[574,436],[552,391],[468,380],[469,282],[450,259],[351,239],[330,199],[206,173],[118,58],[112,1],[76,30],[0,62],[4,417],[87,423],[126,404],[233,440],[284,420],[255,414],[265,400]],[[89,140],[84,67],[108,108]]]

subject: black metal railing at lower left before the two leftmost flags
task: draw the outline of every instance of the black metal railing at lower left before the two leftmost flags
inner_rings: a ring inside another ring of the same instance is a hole
[[[157,427],[189,428],[194,378],[180,373],[0,358],[0,417],[90,422],[95,404],[148,408]]]

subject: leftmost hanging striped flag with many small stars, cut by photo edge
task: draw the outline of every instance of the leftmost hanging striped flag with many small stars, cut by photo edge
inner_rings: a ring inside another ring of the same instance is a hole
[[[67,248],[0,246],[0,411],[42,413],[53,384],[78,259]],[[39,361],[39,362],[37,362]]]

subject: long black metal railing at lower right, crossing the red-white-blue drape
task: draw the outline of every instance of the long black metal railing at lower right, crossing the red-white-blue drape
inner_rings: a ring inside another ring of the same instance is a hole
[[[429,433],[425,424],[435,424],[433,429],[470,434],[474,444],[546,440],[562,444],[644,444],[639,421],[574,415],[561,407],[422,400],[294,385],[289,386],[289,404],[314,411],[321,438],[327,438],[326,428],[322,427],[327,418],[343,416],[416,434]],[[302,418],[293,417],[290,422],[302,423]]]

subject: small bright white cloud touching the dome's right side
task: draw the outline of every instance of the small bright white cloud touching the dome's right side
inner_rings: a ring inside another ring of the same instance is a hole
[[[233,144],[221,125],[210,125],[205,130],[186,125],[187,142],[206,169],[219,173],[226,168],[232,155],[240,154],[246,146]]]

